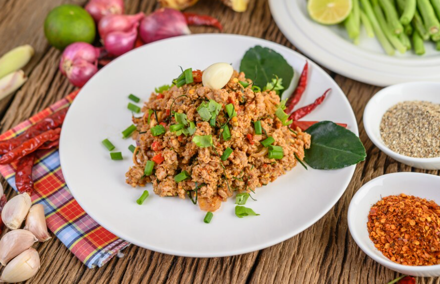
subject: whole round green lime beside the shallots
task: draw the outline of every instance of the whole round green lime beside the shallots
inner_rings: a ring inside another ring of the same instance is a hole
[[[61,50],[77,41],[92,43],[96,35],[95,21],[79,6],[61,5],[44,20],[44,34],[50,44]]]

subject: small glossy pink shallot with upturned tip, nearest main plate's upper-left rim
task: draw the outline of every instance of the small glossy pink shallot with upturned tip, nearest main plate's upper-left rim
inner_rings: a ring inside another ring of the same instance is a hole
[[[104,46],[110,55],[120,56],[134,48],[137,38],[136,23],[129,32],[112,32],[104,38]]]

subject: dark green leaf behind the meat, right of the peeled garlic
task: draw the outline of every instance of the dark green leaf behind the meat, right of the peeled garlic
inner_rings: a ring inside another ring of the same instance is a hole
[[[293,78],[293,68],[287,63],[284,57],[274,50],[254,46],[246,51],[240,64],[240,71],[246,74],[246,77],[252,79],[254,85],[265,87],[267,83],[272,82],[274,75],[283,79],[283,85],[288,88]],[[280,97],[283,94],[282,89]]]

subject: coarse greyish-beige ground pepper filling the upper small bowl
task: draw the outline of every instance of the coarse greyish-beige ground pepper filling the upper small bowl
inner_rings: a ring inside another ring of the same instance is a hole
[[[383,142],[413,158],[440,157],[440,104],[403,101],[385,112],[380,123]]]

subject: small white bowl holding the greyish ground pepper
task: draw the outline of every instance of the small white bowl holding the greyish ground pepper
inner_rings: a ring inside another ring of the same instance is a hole
[[[440,104],[440,83],[403,83],[380,90],[368,101],[365,107],[363,115],[365,131],[369,139],[391,158],[411,167],[438,170],[440,169],[440,157],[412,158],[404,156],[389,149],[381,138],[380,122],[382,116],[389,108],[406,100],[425,100]]]

